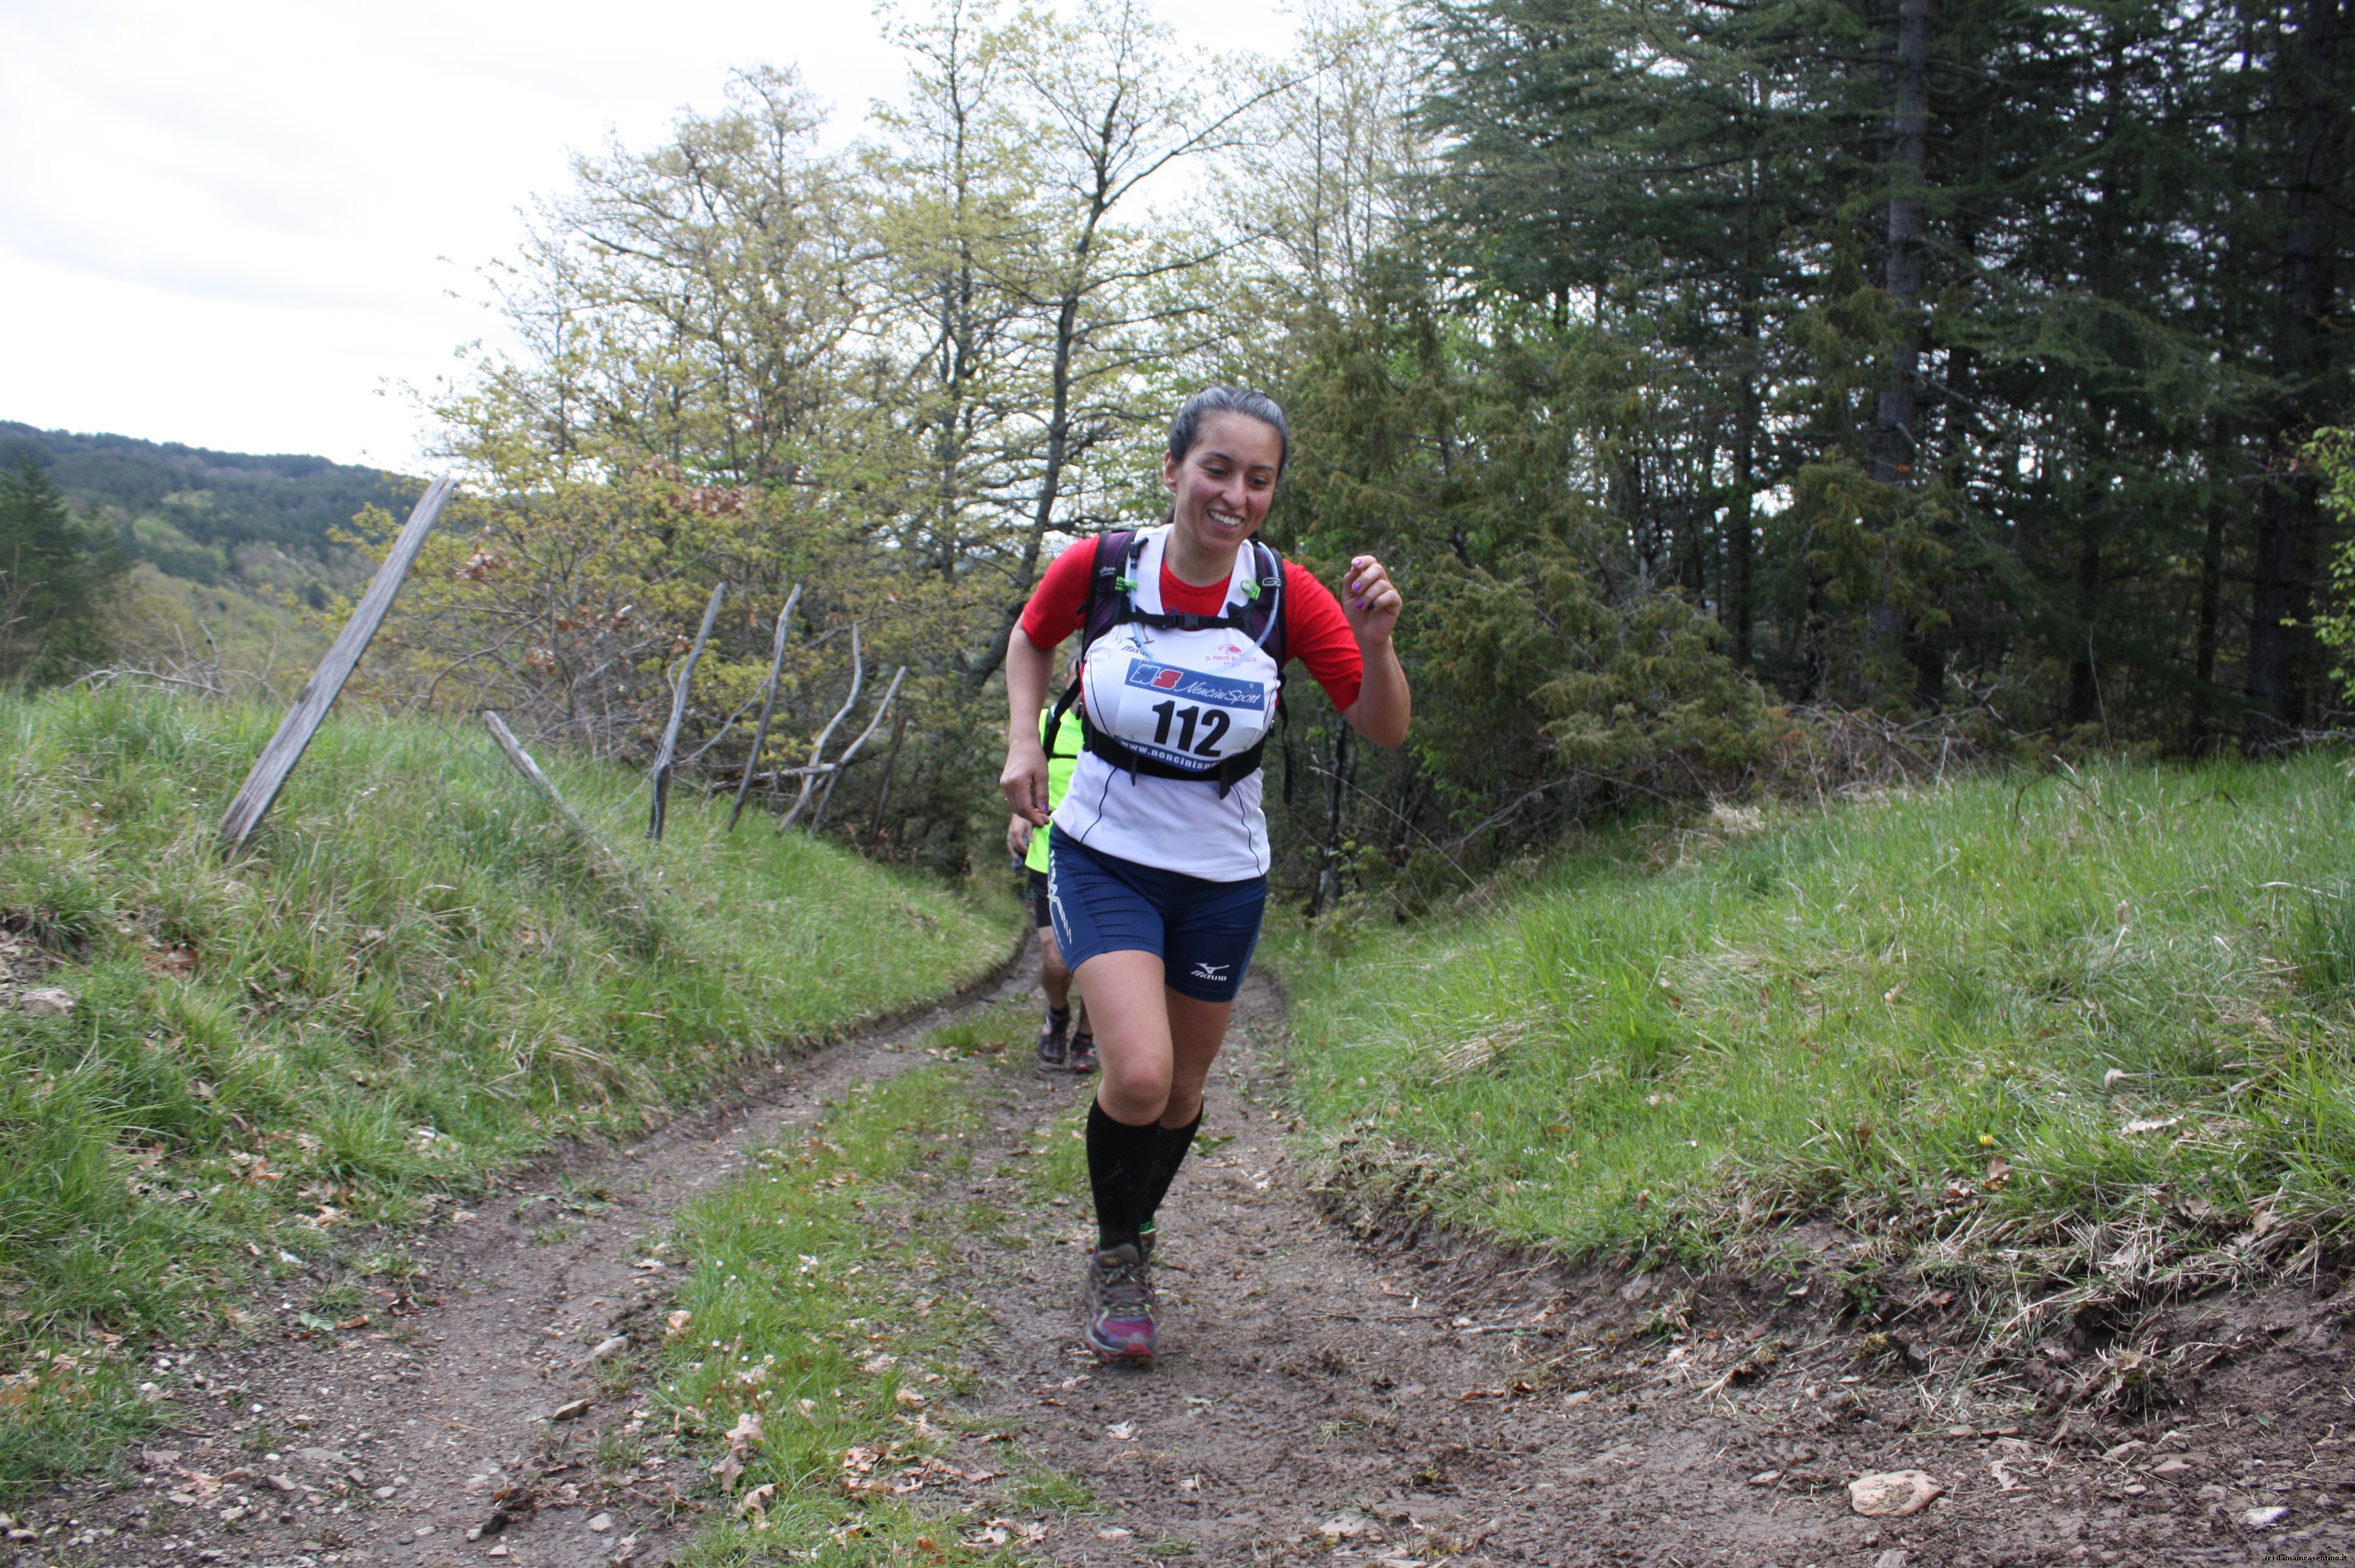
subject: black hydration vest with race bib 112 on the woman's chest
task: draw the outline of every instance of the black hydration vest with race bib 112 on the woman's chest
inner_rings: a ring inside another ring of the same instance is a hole
[[[1119,735],[1116,720],[1100,723],[1100,711],[1126,706],[1097,702],[1081,706],[1081,735],[1086,751],[1104,758],[1128,775],[1154,779],[1192,779],[1215,784],[1220,798],[1260,768],[1267,751],[1267,730],[1274,725],[1283,692],[1283,556],[1246,539],[1248,570],[1229,574],[1229,603],[1220,614],[1163,612],[1137,607],[1140,563],[1145,546],[1161,530],[1114,530],[1095,539],[1095,570],[1088,577],[1088,600],[1081,610],[1081,673],[1055,704],[1060,720],[1081,697],[1088,683],[1088,655],[1114,633],[1128,633],[1137,643],[1119,676],[1119,699],[1135,699],[1140,713]],[[1241,567],[1241,563],[1239,563]],[[1154,572],[1159,572],[1159,560]],[[1159,598],[1159,584],[1156,598]],[[1135,629],[1135,631],[1130,631]],[[1180,650],[1168,662],[1152,659],[1152,633],[1178,633],[1168,638]],[[1201,669],[1201,659],[1187,659],[1185,645],[1196,645],[1194,633],[1234,633],[1251,645],[1253,664],[1265,657],[1274,669],[1265,680],[1236,680],[1218,671]],[[1128,692],[1126,687],[1137,687]],[[1109,692],[1107,692],[1109,695]],[[1152,697],[1159,704],[1147,704]],[[1236,706],[1241,704],[1241,706]],[[1142,718],[1152,716],[1152,735],[1145,735]],[[1222,751],[1220,737],[1236,723],[1255,723],[1248,746]],[[1253,720],[1255,716],[1255,720]],[[1128,718],[1123,713],[1123,718]],[[1175,744],[1173,744],[1175,742]]]

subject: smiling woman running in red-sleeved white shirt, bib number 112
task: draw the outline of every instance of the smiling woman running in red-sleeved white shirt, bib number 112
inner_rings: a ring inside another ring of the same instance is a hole
[[[1335,603],[1253,539],[1291,433],[1265,393],[1210,386],[1170,424],[1159,527],[1055,558],[1006,645],[1006,772],[1017,817],[1048,822],[1039,706],[1081,633],[1086,751],[1055,805],[1048,911],[1095,1024],[1088,1109],[1086,1323],[1097,1356],[1149,1361],[1154,1212],[1201,1125],[1201,1090],[1267,906],[1260,751],[1283,664],[1300,659],[1359,735],[1406,739],[1406,671],[1389,645],[1399,591],[1373,556]]]

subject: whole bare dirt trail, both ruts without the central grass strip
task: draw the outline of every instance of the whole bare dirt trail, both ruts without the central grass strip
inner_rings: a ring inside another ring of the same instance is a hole
[[[996,996],[1027,984],[1017,972]],[[19,1561],[662,1561],[697,1526],[664,1507],[695,1474],[681,1462],[676,1483],[650,1469],[626,1493],[579,1493],[589,1469],[565,1464],[631,1410],[584,1344],[655,1333],[645,1316],[666,1300],[666,1271],[638,1262],[683,1201],[848,1083],[926,1059],[911,1041],[949,1017],[784,1062],[747,1104],[485,1196],[419,1238],[419,1295],[436,1304],[389,1333],[198,1351],[186,1370],[205,1389],[181,1396],[186,1420],[151,1446],[148,1474],[31,1511],[57,1530],[21,1542]],[[1460,1245],[1361,1245],[1286,1156],[1281,1003],[1253,979],[1210,1088],[1208,1130],[1232,1142],[1189,1161],[1163,1212],[1168,1354],[1149,1373],[1102,1370],[1076,1347],[1086,1194],[1039,1205],[1024,1177],[1027,1151],[1062,1137],[1055,1121],[1081,1090],[975,1071],[994,1132],[956,1189],[970,1203],[966,1278],[942,1283],[1001,1328],[973,1347],[977,1415],[1095,1497],[1043,1519],[1041,1561],[2355,1561],[2341,1507],[2355,1500],[2355,1441],[2341,1448],[2334,1427],[2355,1424],[2336,1281],[2181,1314],[2183,1340],[2230,1354],[2190,1406],[2131,1431],[2079,1413],[2056,1434],[2018,1389],[1988,1389],[2009,1406],[1981,1403],[1955,1427],[1926,1398],[1952,1354],[1931,1349],[1922,1377],[1858,1363],[1853,1328],[1780,1288],[1679,1290]],[[591,1401],[582,1417],[546,1420],[577,1398]],[[278,1462],[247,1450],[257,1431],[278,1434]],[[1003,1446],[991,1457],[1003,1464]],[[1929,1471],[1945,1493],[1910,1519],[1863,1519],[1846,1481],[1882,1469]],[[186,1471],[224,1486],[195,1495]],[[537,1507],[469,1542],[506,1486]]]

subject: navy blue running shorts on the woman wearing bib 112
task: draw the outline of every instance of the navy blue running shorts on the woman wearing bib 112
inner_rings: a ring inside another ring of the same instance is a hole
[[[1072,970],[1097,954],[1159,954],[1170,991],[1234,1001],[1260,944],[1267,878],[1206,883],[1057,833],[1048,911]]]

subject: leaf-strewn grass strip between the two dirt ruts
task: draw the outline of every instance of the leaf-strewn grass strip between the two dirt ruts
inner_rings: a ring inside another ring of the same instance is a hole
[[[725,1464],[728,1434],[758,1434],[735,1446],[739,1476],[706,1483],[711,1523],[683,1561],[1015,1561],[1022,1526],[977,1502],[1010,1448],[987,1443],[1006,1455],[989,1469],[947,1450],[961,1429],[947,1401],[970,1391],[958,1349],[989,1330],[956,1290],[956,1236],[991,1220],[947,1191],[970,1170],[989,1092],[954,1057],[1003,1048],[996,1034],[987,1019],[935,1034],[951,1059],[855,1088],[683,1215],[692,1276],[648,1422],[699,1471]]]

